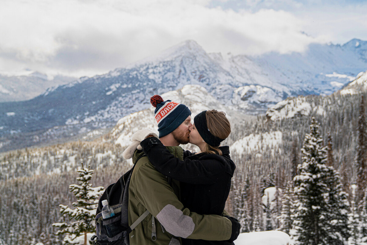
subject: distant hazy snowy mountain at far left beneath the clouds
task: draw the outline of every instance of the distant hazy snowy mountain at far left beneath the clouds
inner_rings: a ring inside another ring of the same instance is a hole
[[[34,71],[24,71],[19,74],[0,72],[0,102],[20,101],[32,99],[47,88],[68,84],[76,80],[75,77],[50,77]]]

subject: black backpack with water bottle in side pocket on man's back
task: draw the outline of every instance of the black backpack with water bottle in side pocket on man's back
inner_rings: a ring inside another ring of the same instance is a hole
[[[142,154],[136,161],[142,157]],[[124,173],[120,179],[107,187],[98,201],[97,213],[95,216],[96,234],[92,236],[91,241],[94,245],[129,245],[128,234],[148,216],[149,211],[143,213],[130,227],[128,223],[128,201],[129,201],[129,184],[134,166]],[[115,215],[107,219],[102,217],[102,201],[107,200],[112,207]]]

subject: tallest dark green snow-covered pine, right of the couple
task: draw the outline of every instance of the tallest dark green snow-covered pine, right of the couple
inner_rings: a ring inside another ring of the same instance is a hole
[[[338,188],[333,190],[331,183],[338,183],[333,178],[332,167],[327,167],[327,147],[319,131],[319,124],[312,117],[310,133],[305,135],[302,152],[302,164],[299,175],[294,178],[295,213],[293,227],[298,245],[342,245],[344,230],[338,224],[343,215],[337,206],[344,204],[346,195],[339,200]],[[341,186],[341,185],[339,185]],[[344,210],[344,206],[342,206]],[[333,214],[333,212],[337,212]],[[342,211],[341,211],[342,212]],[[346,215],[345,215],[346,216]],[[347,224],[347,220],[343,220]]]

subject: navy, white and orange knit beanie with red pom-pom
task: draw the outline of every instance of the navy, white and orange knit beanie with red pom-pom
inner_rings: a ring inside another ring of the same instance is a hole
[[[158,123],[159,138],[170,134],[191,115],[187,106],[171,100],[163,101],[159,95],[152,96],[150,103],[156,107],[154,116]]]

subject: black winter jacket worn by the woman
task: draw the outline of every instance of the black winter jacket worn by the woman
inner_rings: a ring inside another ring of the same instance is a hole
[[[179,180],[182,204],[201,215],[222,215],[227,200],[235,164],[230,159],[229,147],[222,146],[223,155],[183,151],[183,161],[173,156],[155,137],[140,144],[153,166],[172,179]],[[182,239],[185,245],[233,244],[225,241]]]

